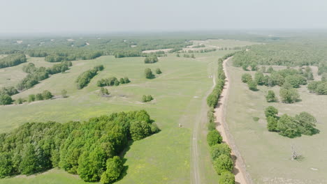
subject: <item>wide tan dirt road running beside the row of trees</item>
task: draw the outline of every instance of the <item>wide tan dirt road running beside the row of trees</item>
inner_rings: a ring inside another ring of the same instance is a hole
[[[240,184],[252,184],[252,180],[247,174],[245,170],[245,164],[242,160],[240,152],[238,148],[235,146],[235,142],[231,133],[228,130],[228,125],[226,124],[226,107],[227,107],[227,100],[228,100],[228,92],[229,92],[229,75],[226,70],[227,61],[231,59],[228,58],[224,61],[224,72],[226,75],[226,82],[224,86],[224,90],[222,91],[218,105],[215,107],[215,116],[216,116],[216,123],[217,123],[217,130],[220,132],[221,137],[226,144],[231,147],[231,155],[234,160],[234,169],[233,174],[235,174],[235,183]]]

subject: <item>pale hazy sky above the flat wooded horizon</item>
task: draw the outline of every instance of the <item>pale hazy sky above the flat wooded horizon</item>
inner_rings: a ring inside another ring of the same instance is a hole
[[[327,29],[326,0],[0,0],[0,33]]]

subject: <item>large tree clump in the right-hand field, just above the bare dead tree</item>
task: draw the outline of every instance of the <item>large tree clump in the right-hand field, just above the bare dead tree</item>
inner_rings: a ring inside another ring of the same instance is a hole
[[[301,112],[292,117],[287,114],[277,116],[278,110],[269,106],[265,110],[267,118],[267,128],[271,132],[279,132],[279,135],[294,138],[301,135],[314,135],[319,133],[317,130],[317,120],[307,112]]]

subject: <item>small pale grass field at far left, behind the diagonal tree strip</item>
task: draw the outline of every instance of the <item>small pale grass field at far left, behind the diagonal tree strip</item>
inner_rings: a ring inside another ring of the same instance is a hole
[[[1,56],[0,56],[1,59]],[[44,58],[36,58],[27,56],[27,63],[34,63],[36,67],[50,67],[54,63],[44,61]],[[3,86],[15,86],[21,79],[27,76],[27,73],[22,71],[24,65],[27,63],[21,63],[17,66],[8,68],[0,68],[0,87]]]

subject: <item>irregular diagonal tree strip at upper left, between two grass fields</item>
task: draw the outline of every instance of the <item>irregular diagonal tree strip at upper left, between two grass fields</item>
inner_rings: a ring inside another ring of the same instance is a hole
[[[23,71],[29,73],[27,77],[24,77],[18,84],[18,90],[30,89],[34,85],[38,84],[41,80],[48,79],[50,75],[57,74],[59,72],[65,72],[69,70],[69,66],[72,66],[71,61],[64,61],[53,65],[50,68],[40,67],[36,68],[34,63],[29,63],[23,67]]]

